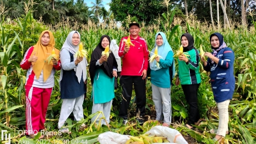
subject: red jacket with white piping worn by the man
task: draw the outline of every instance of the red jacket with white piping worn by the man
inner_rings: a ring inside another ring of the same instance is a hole
[[[128,37],[123,37],[119,45],[118,55],[122,58],[122,71],[120,75],[141,76],[143,70],[148,70],[149,66],[147,43],[145,39],[140,36],[138,36],[137,39],[131,37],[131,42],[135,46],[130,46],[129,52],[123,54],[125,42],[122,42],[122,40],[127,38]]]

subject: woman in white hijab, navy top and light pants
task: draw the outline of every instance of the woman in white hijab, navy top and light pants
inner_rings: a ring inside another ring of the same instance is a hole
[[[86,93],[86,67],[85,57],[75,57],[80,44],[80,34],[72,31],[68,34],[61,52],[60,61],[62,64],[60,74],[60,97],[63,99],[58,128],[63,133],[70,133],[68,128],[61,128],[68,116],[73,111],[74,120],[80,121],[83,118],[83,100]],[[83,123],[81,127],[84,127]]]

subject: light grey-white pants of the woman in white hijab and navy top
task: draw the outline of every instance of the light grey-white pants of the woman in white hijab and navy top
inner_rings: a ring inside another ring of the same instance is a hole
[[[61,129],[61,126],[64,125],[72,111],[74,114],[74,120],[80,121],[81,118],[83,118],[83,100],[84,94],[76,98],[63,99],[58,123],[59,129]]]

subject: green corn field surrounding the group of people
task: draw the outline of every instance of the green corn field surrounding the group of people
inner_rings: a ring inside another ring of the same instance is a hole
[[[174,12],[175,13],[175,12]],[[174,13],[168,20],[165,15],[161,16],[163,20],[159,25],[145,27],[141,24],[140,36],[145,38],[149,50],[153,49],[155,34],[162,31],[166,34],[169,44],[174,51],[177,51],[180,44],[180,36],[183,33],[190,33],[194,37],[195,48],[202,45],[205,52],[211,52],[209,36],[214,32],[219,32],[224,36],[224,41],[235,53],[234,74],[236,79],[235,93],[229,106],[228,127],[230,133],[226,135],[226,143],[255,143],[256,142],[256,22],[253,21],[252,27],[242,27],[237,23],[231,24],[231,29],[216,29],[207,22],[196,21],[193,15],[187,19],[175,18]],[[129,18],[127,20],[129,22]],[[157,20],[156,20],[157,21]],[[12,143],[19,143],[22,140],[36,143],[37,138],[29,139],[24,136],[20,130],[26,129],[25,126],[25,90],[26,71],[21,69],[25,52],[30,46],[38,41],[39,35],[43,30],[53,32],[56,42],[56,48],[61,49],[67,35],[72,30],[77,30],[81,34],[81,42],[88,51],[87,61],[90,61],[90,54],[100,41],[102,35],[108,35],[111,39],[120,42],[121,38],[129,35],[127,27],[117,27],[116,23],[110,24],[92,24],[74,25],[65,21],[55,26],[46,26],[40,21],[33,19],[31,12],[23,18],[16,20],[3,19],[0,23],[0,58],[1,58],[1,87],[0,87],[0,130],[8,130],[11,133]],[[177,64],[177,59],[175,60]],[[201,64],[200,64],[201,65]],[[178,68],[178,65],[176,69]],[[199,108],[200,115],[203,118],[198,125],[197,130],[186,129],[183,125],[188,117],[188,104],[183,95],[181,86],[172,86],[172,128],[177,129],[183,135],[193,137],[194,143],[213,143],[211,139],[214,134],[209,132],[212,128],[218,126],[218,112],[213,100],[213,94],[209,83],[209,73],[203,71],[200,67],[202,82],[199,88]],[[46,115],[46,129],[48,131],[58,131],[57,123],[60,115],[62,100],[59,92],[59,72],[55,74],[55,86],[52,92],[51,100]],[[94,115],[91,113],[92,101],[91,83],[88,81],[87,95],[85,97],[83,108],[85,119],[88,125],[85,129],[79,129],[78,123],[68,118],[68,128],[72,134],[47,135],[46,140],[54,143],[68,143],[67,141],[76,140],[80,143],[87,140],[87,143],[97,142],[97,136],[105,131],[118,132],[120,134],[139,135],[145,133],[152,126],[159,125],[157,121],[149,120],[144,125],[131,122],[130,125],[123,126],[118,117],[118,107],[121,101],[120,87],[115,90],[115,98],[110,114],[110,127],[94,126],[90,119]],[[133,93],[135,96],[135,93]],[[133,115],[135,111],[135,99],[130,103],[129,113]],[[147,81],[147,113],[154,111],[152,101],[152,90],[150,81]],[[135,118],[130,117],[131,121]],[[69,141],[69,142],[70,142]],[[2,141],[8,142],[6,140]]]

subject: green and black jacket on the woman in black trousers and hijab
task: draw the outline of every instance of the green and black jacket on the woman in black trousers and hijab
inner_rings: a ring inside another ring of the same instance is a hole
[[[179,79],[181,84],[198,84],[201,82],[201,77],[199,73],[199,52],[196,49],[188,51],[190,55],[189,61],[185,63],[184,61],[179,62]]]

